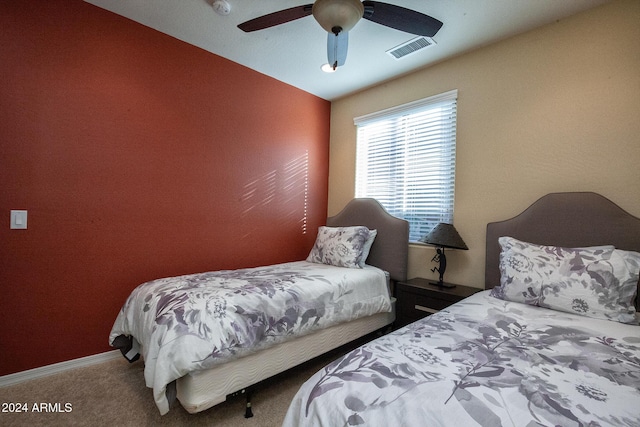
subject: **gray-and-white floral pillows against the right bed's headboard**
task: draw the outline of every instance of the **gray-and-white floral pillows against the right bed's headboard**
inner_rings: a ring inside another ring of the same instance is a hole
[[[562,248],[498,239],[500,286],[492,295],[588,317],[637,323],[640,254],[613,246]]]

